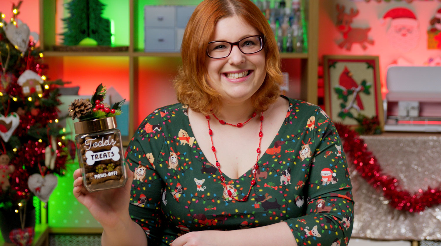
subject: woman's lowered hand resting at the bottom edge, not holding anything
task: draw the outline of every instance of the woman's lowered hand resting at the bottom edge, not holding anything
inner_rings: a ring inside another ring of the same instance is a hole
[[[177,239],[170,246],[224,246],[228,231],[191,231]]]

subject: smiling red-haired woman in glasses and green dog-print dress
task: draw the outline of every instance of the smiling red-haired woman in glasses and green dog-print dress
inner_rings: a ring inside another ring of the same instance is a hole
[[[347,245],[340,138],[319,107],[279,96],[277,44],[258,7],[203,1],[182,57],[180,103],[147,116],[127,148],[133,183],[89,194],[75,171],[102,244]]]

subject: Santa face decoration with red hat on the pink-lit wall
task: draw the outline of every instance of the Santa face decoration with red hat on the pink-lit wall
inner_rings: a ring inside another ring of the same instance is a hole
[[[387,37],[390,45],[401,51],[410,51],[418,45],[419,22],[415,14],[408,8],[395,7],[383,15],[381,22],[390,20]]]

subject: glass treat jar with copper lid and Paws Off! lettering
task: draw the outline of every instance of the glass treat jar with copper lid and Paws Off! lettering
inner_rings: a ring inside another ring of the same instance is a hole
[[[115,117],[74,123],[78,162],[89,192],[122,187],[127,173]]]

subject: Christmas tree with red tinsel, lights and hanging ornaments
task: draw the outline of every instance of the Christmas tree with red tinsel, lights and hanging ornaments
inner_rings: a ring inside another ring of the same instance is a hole
[[[58,125],[63,82],[46,80],[38,37],[17,18],[20,4],[9,17],[0,12],[0,170],[6,173],[0,209],[17,213],[34,195],[47,202],[55,186],[48,190],[45,182],[55,177],[56,185],[53,174],[63,175],[75,156],[75,145]]]

